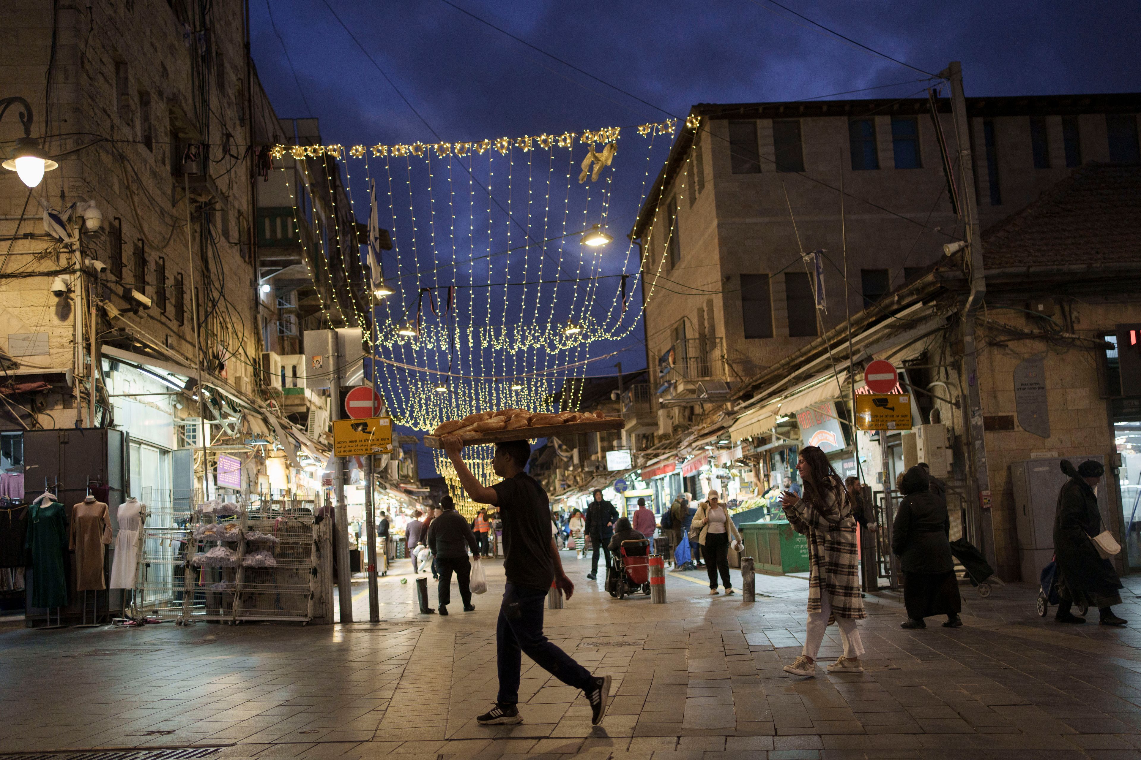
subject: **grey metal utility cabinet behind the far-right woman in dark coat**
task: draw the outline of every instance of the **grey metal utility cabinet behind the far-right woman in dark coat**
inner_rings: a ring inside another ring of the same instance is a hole
[[[1104,457],[1065,457],[1075,467],[1085,461],[1104,464]],[[1018,550],[1022,565],[1022,580],[1034,583],[1038,580],[1054,554],[1054,516],[1058,512],[1058,493],[1069,477],[1061,471],[1061,459],[1027,459],[1010,465],[1010,482],[1014,492],[1014,524],[1018,529]],[[1106,498],[1106,479],[1098,483],[1098,510],[1106,529],[1109,507]]]

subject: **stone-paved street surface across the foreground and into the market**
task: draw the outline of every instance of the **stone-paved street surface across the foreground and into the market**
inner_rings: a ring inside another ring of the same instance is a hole
[[[1141,605],[1135,624],[1061,627],[1036,589],[981,599],[964,628],[899,628],[898,595],[866,599],[867,672],[782,671],[803,640],[807,581],[758,577],[758,600],[707,596],[704,572],[671,573],[670,602],[612,599],[565,554],[577,583],[547,632],[614,677],[604,726],[581,695],[524,657],[519,726],[483,727],[495,695],[502,570],[463,613],[416,614],[406,562],[381,579],[385,622],[200,623],[0,632],[0,752],[220,747],[213,758],[1141,758]],[[1141,580],[1141,579],[1139,579]],[[429,581],[432,599],[435,588]],[[367,620],[365,583],[355,614]],[[739,588],[739,586],[738,586]],[[833,627],[820,657],[840,653]],[[598,753],[598,754],[596,754]]]

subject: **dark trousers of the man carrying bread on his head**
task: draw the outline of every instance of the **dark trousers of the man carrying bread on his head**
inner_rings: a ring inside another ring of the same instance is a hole
[[[503,591],[495,644],[499,660],[500,704],[518,704],[523,653],[567,686],[588,689],[590,672],[543,636],[547,591],[508,583]]]

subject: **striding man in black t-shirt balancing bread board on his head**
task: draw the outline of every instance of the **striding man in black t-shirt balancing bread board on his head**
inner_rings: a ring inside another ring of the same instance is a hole
[[[460,484],[479,504],[493,504],[503,521],[503,572],[507,588],[495,628],[499,660],[499,695],[495,706],[476,718],[485,726],[523,722],[519,714],[519,673],[521,653],[567,686],[582,689],[590,703],[591,724],[598,726],[606,714],[610,677],[593,677],[566,652],[543,635],[543,605],[551,585],[567,598],[574,583],[563,571],[551,528],[551,506],[543,487],[525,471],[531,458],[527,441],[495,444],[492,468],[503,480],[487,488],[471,474],[461,456],[463,441],[445,435],[444,450],[455,466]]]

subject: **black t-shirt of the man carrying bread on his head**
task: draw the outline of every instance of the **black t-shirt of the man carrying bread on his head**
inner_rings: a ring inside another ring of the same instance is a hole
[[[492,487],[503,520],[503,571],[507,581],[545,591],[555,581],[551,561],[551,502],[527,473]]]

